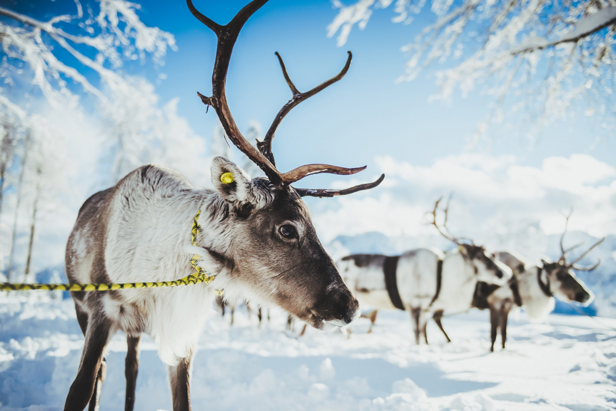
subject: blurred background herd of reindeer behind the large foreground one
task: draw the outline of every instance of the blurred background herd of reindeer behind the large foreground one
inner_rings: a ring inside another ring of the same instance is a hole
[[[593,300],[593,293],[586,288],[572,269],[591,271],[599,266],[600,260],[593,266],[582,267],[576,263],[604,241],[599,239],[575,260],[567,262],[567,253],[580,247],[565,249],[563,241],[567,233],[569,214],[565,218],[565,229],[561,235],[561,257],[556,262],[541,259],[541,265],[527,266],[522,257],[513,252],[500,251],[488,253],[471,240],[462,242],[452,236],[447,229],[449,205],[443,210],[444,223],[437,223],[437,211],[440,199],[430,212],[431,225],[457,247],[442,252],[437,249],[416,249],[402,255],[352,254],[336,261],[342,279],[352,290],[360,305],[368,306],[371,311],[362,314],[370,319],[370,329],[376,322],[376,315],[382,309],[401,309],[411,314],[415,342],[421,337],[428,344],[426,325],[432,317],[447,338],[441,322],[445,311],[450,314],[466,312],[471,308],[490,311],[490,351],[494,351],[498,330],[501,333],[501,345],[505,348],[507,340],[507,321],[509,312],[514,307],[524,307],[529,319],[543,321],[554,309],[554,297],[565,302],[575,301],[588,305]],[[465,238],[465,240],[468,240]],[[222,316],[228,303],[224,298],[216,301]],[[252,309],[244,301],[248,314]],[[235,305],[230,305],[231,324]],[[267,311],[269,320],[269,310]],[[259,326],[262,322],[262,308],[257,309]],[[293,316],[288,316],[287,329],[293,324]],[[306,324],[299,335],[306,332]],[[350,334],[349,334],[350,335]]]

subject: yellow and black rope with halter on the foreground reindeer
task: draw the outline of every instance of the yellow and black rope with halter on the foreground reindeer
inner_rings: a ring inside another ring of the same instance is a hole
[[[201,226],[198,223],[199,214],[198,211],[193,218],[192,230],[190,232],[190,239],[192,245],[197,246],[197,233],[200,231]],[[99,284],[11,284],[4,282],[0,284],[0,291],[19,291],[19,290],[64,290],[64,291],[110,291],[110,290],[124,290],[124,289],[148,289],[154,287],[178,287],[179,285],[199,284],[205,282],[209,284],[216,278],[216,275],[206,275],[203,268],[197,265],[200,261],[200,256],[195,254],[190,258],[190,265],[196,269],[197,272],[180,278],[176,281],[156,281],[156,282],[123,282],[123,283],[99,283]],[[224,290],[214,290],[216,295],[222,295]]]

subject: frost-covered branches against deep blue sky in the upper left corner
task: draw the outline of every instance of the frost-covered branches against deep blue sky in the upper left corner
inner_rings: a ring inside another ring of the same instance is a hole
[[[78,7],[76,15],[59,15],[47,22],[0,7],[0,15],[6,17],[0,20],[3,54],[0,74],[4,82],[14,84],[15,78],[23,82],[23,70],[15,68],[25,63],[33,74],[32,84],[39,87],[51,105],[62,105],[67,100],[75,103],[78,95],[71,90],[69,82],[107,103],[102,86],[111,89],[126,86],[120,74],[113,70],[120,67],[124,59],[145,58],[148,53],[155,63],[160,63],[168,47],[175,49],[172,34],[140,22],[136,4],[100,0],[97,5],[99,12],[95,16],[84,17]],[[73,30],[79,28],[79,34],[67,33],[59,27],[62,24]],[[102,86],[94,86],[80,73],[79,67],[57,57],[60,50],[94,70]],[[94,57],[87,57],[91,54]]]

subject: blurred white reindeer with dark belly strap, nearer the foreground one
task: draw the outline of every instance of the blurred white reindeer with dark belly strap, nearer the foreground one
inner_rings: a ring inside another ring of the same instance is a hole
[[[488,257],[484,247],[465,244],[446,234],[436,222],[439,207],[432,211],[434,225],[440,234],[455,242],[455,250],[441,253],[418,249],[400,256],[379,254],[349,255],[336,262],[342,279],[362,305],[375,310],[398,308],[411,313],[415,341],[421,335],[428,343],[426,324],[429,316],[445,333],[441,318],[445,310],[461,311],[471,305],[477,281],[503,285],[511,278],[511,269]],[[373,313],[372,319],[376,319]],[[447,341],[449,337],[445,333]]]

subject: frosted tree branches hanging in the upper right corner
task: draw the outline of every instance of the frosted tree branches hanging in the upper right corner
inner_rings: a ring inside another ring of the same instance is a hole
[[[360,0],[342,6],[334,1],[340,10],[328,35],[339,31],[342,46],[355,24],[363,29],[373,10],[392,2]],[[411,15],[425,4],[425,0],[397,0],[397,17],[392,21],[410,23]],[[410,57],[399,81],[413,80],[437,63],[447,68],[436,72],[436,98],[450,97],[456,87],[466,95],[482,84],[495,105],[479,131],[500,121],[505,107],[509,114],[530,116],[534,126],[579,111],[580,106],[586,116],[615,114],[616,1],[434,0],[430,4],[436,21],[402,47]],[[510,98],[506,105],[505,97]]]

